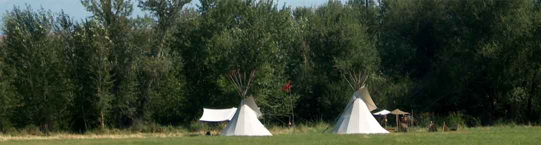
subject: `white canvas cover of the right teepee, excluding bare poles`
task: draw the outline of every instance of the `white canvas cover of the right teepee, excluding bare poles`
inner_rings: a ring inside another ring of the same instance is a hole
[[[344,112],[333,127],[336,134],[386,134],[389,133],[375,120],[369,107],[358,92],[353,93]]]

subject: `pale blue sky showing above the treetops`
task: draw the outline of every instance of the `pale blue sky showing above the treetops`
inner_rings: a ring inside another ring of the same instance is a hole
[[[137,0],[132,0],[133,2],[136,2]],[[317,6],[324,4],[328,0],[276,0],[279,5],[283,5],[284,3],[286,5],[291,5],[293,7],[296,6]],[[345,0],[342,0],[345,1]],[[33,9],[38,9],[40,6],[42,6],[45,10],[51,10],[52,12],[60,12],[61,10],[64,10],[64,12],[68,13],[69,16],[74,17],[75,20],[83,19],[84,17],[90,16],[90,13],[84,10],[83,6],[81,5],[80,0],[0,0],[0,13],[2,15],[13,8],[14,5],[21,6],[21,8],[25,7],[26,4],[30,4]],[[196,6],[199,4],[199,0],[193,0],[192,3],[188,4],[188,6]],[[134,12],[134,16],[137,15],[144,15],[145,12],[139,10],[136,8]],[[1,22],[0,22],[1,23]]]

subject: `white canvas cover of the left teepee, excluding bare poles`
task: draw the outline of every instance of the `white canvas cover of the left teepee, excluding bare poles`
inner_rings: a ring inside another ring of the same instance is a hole
[[[222,136],[272,136],[271,132],[258,120],[261,116],[254,98],[248,97],[240,102],[233,119],[222,130]]]

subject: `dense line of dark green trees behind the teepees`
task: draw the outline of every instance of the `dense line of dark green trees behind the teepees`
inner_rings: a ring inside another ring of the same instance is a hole
[[[332,122],[360,70],[381,109],[541,123],[540,1],[190,2],[82,0],[81,20],[5,12],[0,130],[189,125],[203,107],[236,107],[227,74],[254,69],[268,122]],[[134,4],[148,15],[130,17]]]

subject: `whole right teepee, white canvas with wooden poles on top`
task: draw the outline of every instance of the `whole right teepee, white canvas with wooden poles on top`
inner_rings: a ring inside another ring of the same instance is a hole
[[[361,73],[359,74],[361,75]],[[372,101],[368,89],[364,86],[366,77],[353,77],[351,79],[359,89],[349,99],[344,112],[340,114],[334,124],[333,133],[336,134],[385,134],[389,133],[375,120],[371,109],[377,108]],[[348,81],[349,82],[349,81]],[[349,83],[352,88],[355,88]],[[369,103],[367,103],[369,102]]]

